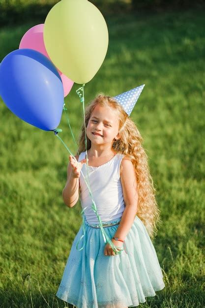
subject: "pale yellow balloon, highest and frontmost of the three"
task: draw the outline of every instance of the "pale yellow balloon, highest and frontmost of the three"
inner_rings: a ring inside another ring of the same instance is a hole
[[[90,81],[108,49],[108,28],[95,5],[85,0],[61,0],[44,24],[44,43],[51,61],[78,84]]]

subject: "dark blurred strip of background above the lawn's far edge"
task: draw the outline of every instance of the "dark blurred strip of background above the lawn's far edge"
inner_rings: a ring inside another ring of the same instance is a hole
[[[45,19],[58,0],[0,0],[0,25]],[[205,7],[205,0],[91,0],[103,14],[133,11],[185,10]]]

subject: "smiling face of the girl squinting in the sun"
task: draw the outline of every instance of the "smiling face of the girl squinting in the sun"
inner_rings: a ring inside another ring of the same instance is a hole
[[[114,138],[118,135],[119,120],[113,109],[96,105],[86,129],[87,136],[91,143],[96,145],[113,144]]]

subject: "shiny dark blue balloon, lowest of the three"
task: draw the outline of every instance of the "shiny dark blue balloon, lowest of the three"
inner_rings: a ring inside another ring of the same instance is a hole
[[[54,130],[62,116],[63,85],[54,64],[32,49],[17,49],[0,64],[0,94],[20,119]]]

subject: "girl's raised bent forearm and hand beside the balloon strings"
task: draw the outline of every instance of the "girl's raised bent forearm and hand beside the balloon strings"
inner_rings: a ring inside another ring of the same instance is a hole
[[[79,156],[75,155],[75,158],[78,161]],[[69,159],[70,163],[68,164],[67,168],[67,181],[62,191],[62,198],[65,205],[67,205],[69,208],[72,208],[79,199],[80,171],[86,159],[83,159],[81,162],[76,162],[71,155],[69,156]]]

